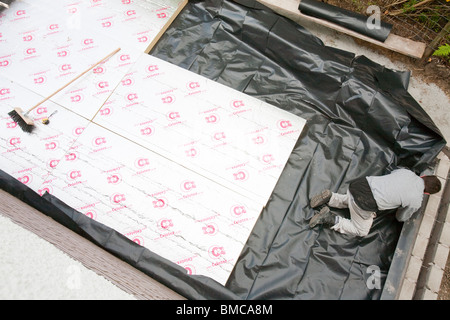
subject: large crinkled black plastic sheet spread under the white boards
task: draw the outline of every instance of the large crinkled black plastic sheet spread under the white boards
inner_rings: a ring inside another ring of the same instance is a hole
[[[402,228],[394,212],[360,238],[310,229],[309,198],[398,166],[430,170],[446,142],[407,92],[409,73],[326,47],[251,0],[190,1],[151,54],[308,120],[226,286],[4,172],[0,187],[189,299],[379,299]]]

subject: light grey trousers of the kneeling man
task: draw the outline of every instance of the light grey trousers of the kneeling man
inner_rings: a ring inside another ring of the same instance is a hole
[[[350,210],[350,219],[338,217],[338,222],[331,229],[360,237],[364,237],[369,233],[376,213],[358,207],[350,191],[347,191],[346,194],[333,192],[328,206],[340,209],[348,208]]]

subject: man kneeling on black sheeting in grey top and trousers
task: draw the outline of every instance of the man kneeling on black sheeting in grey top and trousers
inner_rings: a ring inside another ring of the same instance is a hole
[[[318,224],[355,236],[366,236],[378,210],[398,208],[396,218],[408,220],[422,206],[423,195],[441,190],[440,180],[434,176],[419,177],[408,169],[397,169],[384,176],[360,178],[349,185],[346,194],[324,190],[312,197],[312,208],[321,207],[309,222],[311,228]],[[329,207],[348,208],[350,219],[342,218]]]

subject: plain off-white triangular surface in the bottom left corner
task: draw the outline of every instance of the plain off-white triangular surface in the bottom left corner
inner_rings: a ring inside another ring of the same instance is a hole
[[[134,299],[104,277],[2,215],[0,242],[0,299]]]

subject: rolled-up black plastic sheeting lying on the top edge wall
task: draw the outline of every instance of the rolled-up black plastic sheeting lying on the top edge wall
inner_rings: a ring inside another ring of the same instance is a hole
[[[376,25],[371,17],[316,0],[301,0],[298,9],[303,14],[333,22],[381,42],[387,39],[392,29],[392,24],[379,20]]]

